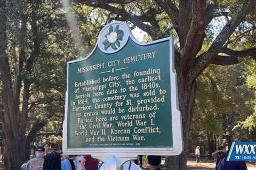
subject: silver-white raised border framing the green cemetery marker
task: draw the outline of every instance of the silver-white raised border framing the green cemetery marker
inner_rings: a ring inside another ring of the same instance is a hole
[[[134,147],[134,148],[67,148],[67,119],[68,119],[68,71],[69,71],[69,64],[76,63],[80,61],[84,61],[89,58],[94,50],[97,48],[99,43],[99,38],[102,36],[102,31],[105,29],[103,28],[98,36],[98,41],[95,47],[93,48],[92,52],[86,56],[85,58],[69,61],[67,62],[67,91],[66,91],[66,98],[65,98],[65,119],[63,121],[63,139],[62,139],[62,151],[65,154],[75,154],[75,155],[83,155],[83,154],[91,154],[95,158],[99,158],[105,161],[110,155],[115,155],[121,163],[126,162],[127,160],[134,159],[138,155],[163,155],[163,156],[173,156],[173,155],[180,155],[183,150],[183,139],[182,139],[182,119],[181,119],[181,112],[179,111],[179,100],[178,100],[178,83],[177,83],[177,74],[175,73],[174,67],[174,45],[173,39],[171,37],[158,39],[155,41],[151,41],[149,43],[140,43],[137,39],[134,38],[132,35],[132,31],[130,27],[121,21],[111,22],[107,24],[105,27],[107,28],[109,25],[112,24],[123,24],[127,27],[127,33],[129,37],[134,41],[134,43],[147,46],[151,44],[160,43],[162,41],[170,41],[170,79],[175,80],[171,81],[171,110],[172,110],[172,135],[173,135],[173,147],[172,148],[149,148],[149,147]],[[127,42],[125,42],[126,44]],[[118,49],[121,50],[122,48]],[[116,53],[118,50],[115,50]],[[109,53],[108,53],[109,54]],[[175,132],[174,132],[175,130]]]

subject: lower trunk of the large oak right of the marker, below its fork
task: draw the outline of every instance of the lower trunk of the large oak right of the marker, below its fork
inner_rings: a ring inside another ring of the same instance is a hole
[[[167,158],[166,168],[169,170],[185,170],[187,167],[189,149],[188,132],[192,118],[192,109],[195,103],[196,81],[186,81],[178,76],[178,82],[179,107],[182,115],[183,152],[178,156],[169,156]]]

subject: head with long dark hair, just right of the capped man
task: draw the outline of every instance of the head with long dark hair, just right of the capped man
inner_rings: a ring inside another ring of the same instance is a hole
[[[57,152],[46,154],[43,170],[61,170],[61,159]]]

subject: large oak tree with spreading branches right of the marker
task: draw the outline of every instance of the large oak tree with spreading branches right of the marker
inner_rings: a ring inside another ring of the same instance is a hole
[[[177,35],[175,70],[178,75],[179,108],[182,114],[183,154],[170,157],[168,169],[186,169],[188,132],[193,117],[196,79],[210,65],[232,65],[238,58],[254,56],[256,47],[237,50],[230,44],[253,35],[256,1],[210,0],[75,0],[108,11],[112,20],[127,21],[147,32],[153,39]],[[113,16],[114,14],[114,16]],[[217,35],[211,32],[211,22],[220,16],[225,23]],[[165,18],[165,24],[163,24]],[[234,38],[235,37],[235,38]],[[209,48],[202,51],[206,39],[212,39]]]

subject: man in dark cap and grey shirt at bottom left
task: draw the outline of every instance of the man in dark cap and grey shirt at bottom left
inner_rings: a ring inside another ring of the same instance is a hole
[[[44,164],[44,147],[36,148],[36,157],[30,159],[26,170],[42,170]]]

